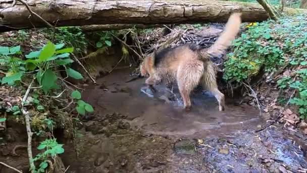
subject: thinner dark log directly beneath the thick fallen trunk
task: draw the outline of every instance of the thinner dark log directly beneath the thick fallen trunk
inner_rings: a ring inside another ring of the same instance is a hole
[[[158,28],[164,27],[164,25],[144,25],[144,24],[111,24],[111,25],[87,25],[81,26],[83,32],[94,32],[101,30],[120,30],[120,29],[128,29],[128,28],[139,28],[139,29],[147,29],[147,28]]]

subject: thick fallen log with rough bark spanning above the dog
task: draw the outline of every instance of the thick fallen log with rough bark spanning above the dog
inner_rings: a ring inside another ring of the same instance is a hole
[[[24,5],[0,2],[0,32],[16,28],[40,28],[46,24],[37,17],[29,18]],[[233,12],[242,13],[243,22],[268,19],[258,4],[211,0],[28,0],[32,11],[56,26],[92,24],[173,24],[226,22]],[[291,9],[290,9],[291,10]],[[285,9],[285,12],[287,9]],[[292,12],[305,10],[292,10]]]

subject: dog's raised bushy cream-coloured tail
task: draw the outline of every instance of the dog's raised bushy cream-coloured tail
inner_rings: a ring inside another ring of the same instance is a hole
[[[220,35],[218,40],[215,41],[214,45],[212,45],[206,51],[203,51],[201,59],[208,59],[210,56],[217,57],[222,54],[237,36],[240,30],[240,24],[241,13],[234,13],[230,15],[224,32]]]

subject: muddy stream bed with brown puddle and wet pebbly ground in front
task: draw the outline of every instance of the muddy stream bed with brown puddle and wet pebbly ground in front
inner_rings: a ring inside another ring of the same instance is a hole
[[[297,172],[307,168],[304,136],[281,127],[254,133],[267,117],[227,99],[225,112],[203,91],[192,94],[193,108],[144,79],[126,83],[129,70],[114,71],[88,86],[83,98],[95,108],[83,121],[74,144],[67,141],[68,172]],[[72,147],[75,146],[75,147]],[[77,151],[77,152],[75,152]]]

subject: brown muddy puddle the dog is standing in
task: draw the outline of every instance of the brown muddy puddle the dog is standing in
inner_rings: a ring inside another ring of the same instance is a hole
[[[203,138],[218,133],[232,133],[244,128],[256,127],[264,121],[259,111],[250,106],[226,105],[226,111],[218,111],[218,102],[207,92],[192,94],[192,110],[182,109],[182,99],[177,88],[175,98],[164,85],[156,86],[152,94],[144,91],[144,78],[126,83],[129,71],[114,71],[101,78],[101,86],[86,89],[84,99],[95,106],[99,113],[121,113],[131,119],[131,124],[146,133]],[[108,91],[107,91],[108,90]],[[172,101],[173,100],[173,101]]]

